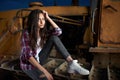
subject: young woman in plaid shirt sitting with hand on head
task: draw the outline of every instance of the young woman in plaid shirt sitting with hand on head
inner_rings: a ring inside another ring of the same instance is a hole
[[[51,24],[52,30],[48,31],[46,21]],[[62,30],[48,16],[46,11],[38,9],[31,11],[28,16],[27,26],[27,29],[22,34],[20,66],[33,80],[54,80],[52,74],[42,66],[53,45],[68,62],[69,73],[89,74],[88,70],[81,67],[77,60],[73,60],[70,56],[58,38]]]

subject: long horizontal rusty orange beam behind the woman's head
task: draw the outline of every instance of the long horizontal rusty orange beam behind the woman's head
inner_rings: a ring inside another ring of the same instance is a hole
[[[88,7],[81,7],[81,6],[49,6],[49,7],[35,6],[30,8],[24,8],[24,10],[28,10],[28,9],[29,10],[34,10],[34,9],[46,10],[50,15],[69,16],[69,15],[87,15],[88,14]],[[0,12],[0,18],[8,18],[8,17],[12,18],[16,15],[17,11],[19,10],[21,9],[2,11]]]

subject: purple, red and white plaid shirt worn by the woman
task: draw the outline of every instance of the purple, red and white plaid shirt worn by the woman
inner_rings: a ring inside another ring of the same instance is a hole
[[[62,30],[60,28],[55,28],[52,31],[52,34],[59,36],[60,34],[62,34]],[[36,50],[32,50],[29,46],[29,43],[29,33],[27,30],[25,30],[23,32],[21,41],[20,67],[22,70],[32,70],[35,68],[28,60],[30,57],[35,57]]]

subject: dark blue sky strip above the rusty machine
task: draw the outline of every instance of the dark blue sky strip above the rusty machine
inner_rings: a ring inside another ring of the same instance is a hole
[[[30,2],[39,1],[44,6],[71,6],[72,0],[0,0],[0,11],[28,8]],[[79,6],[90,6],[90,0],[79,0]]]

